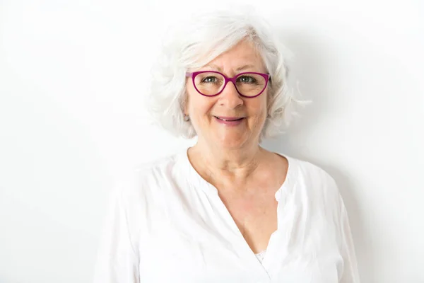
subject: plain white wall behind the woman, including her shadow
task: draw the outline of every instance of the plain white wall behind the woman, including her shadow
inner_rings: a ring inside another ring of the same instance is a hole
[[[0,0],[1,283],[90,282],[114,180],[193,142],[148,123],[158,35],[226,3]],[[314,101],[266,146],[336,178],[363,282],[424,282],[423,1],[245,4]]]

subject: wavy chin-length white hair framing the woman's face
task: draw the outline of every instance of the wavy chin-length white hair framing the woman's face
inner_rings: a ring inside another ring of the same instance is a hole
[[[196,136],[190,121],[184,120],[187,103],[186,72],[202,67],[230,50],[241,40],[252,42],[271,76],[267,117],[260,140],[274,137],[288,127],[295,112],[293,89],[288,87],[286,59],[291,53],[276,40],[269,23],[248,11],[214,11],[183,21],[168,30],[158,62],[153,66],[148,109],[162,127],[191,139]]]

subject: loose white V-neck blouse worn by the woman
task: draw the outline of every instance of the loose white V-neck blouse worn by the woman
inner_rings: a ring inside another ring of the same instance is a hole
[[[275,195],[278,229],[266,253],[252,252],[216,187],[194,170],[184,149],[139,166],[114,190],[94,282],[358,283],[334,179],[281,155],[289,167]]]

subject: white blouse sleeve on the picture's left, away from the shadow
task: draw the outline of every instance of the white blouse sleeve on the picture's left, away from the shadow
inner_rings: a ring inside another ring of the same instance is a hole
[[[139,258],[131,243],[122,186],[110,194],[95,262],[94,283],[139,283]]]

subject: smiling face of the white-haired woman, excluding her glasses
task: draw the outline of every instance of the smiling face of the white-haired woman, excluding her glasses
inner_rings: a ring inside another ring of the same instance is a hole
[[[220,71],[231,78],[248,71],[266,73],[266,68],[251,43],[241,41],[206,66],[194,71]],[[184,110],[190,117],[199,142],[228,149],[259,144],[267,115],[267,88],[255,98],[245,98],[237,93],[232,82],[228,82],[218,96],[207,97],[196,91],[192,78],[187,78],[186,85],[188,101]],[[242,120],[228,123],[217,117]]]

